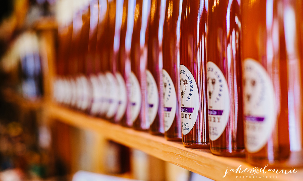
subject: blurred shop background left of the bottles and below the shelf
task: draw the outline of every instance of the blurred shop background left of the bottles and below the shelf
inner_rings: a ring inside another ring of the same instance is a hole
[[[56,0],[0,2],[0,180],[208,180],[47,119],[51,85],[44,82],[48,59],[56,55],[55,5]]]

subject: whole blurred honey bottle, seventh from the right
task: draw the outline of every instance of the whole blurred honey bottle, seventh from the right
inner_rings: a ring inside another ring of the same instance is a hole
[[[122,79],[117,77],[123,90],[123,83],[125,85],[125,95],[121,93],[120,109],[116,114],[116,120],[120,120],[120,124],[126,127],[131,127],[133,122],[131,121],[131,104],[130,104],[130,44],[133,33],[133,15],[135,9],[135,0],[124,0],[123,2],[123,15],[120,32],[120,48],[117,60],[117,74],[123,77]],[[123,100],[124,97],[124,100]],[[123,108],[125,106],[125,108]],[[124,112],[123,112],[124,109]]]

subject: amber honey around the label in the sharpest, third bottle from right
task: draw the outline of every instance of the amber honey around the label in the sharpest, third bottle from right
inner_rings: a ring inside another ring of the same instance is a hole
[[[199,112],[192,130],[182,136],[183,144],[190,148],[209,148],[206,95],[206,30],[207,7],[203,0],[185,0],[182,5],[180,27],[180,65],[186,66],[197,82]],[[197,28],[199,27],[199,32]]]

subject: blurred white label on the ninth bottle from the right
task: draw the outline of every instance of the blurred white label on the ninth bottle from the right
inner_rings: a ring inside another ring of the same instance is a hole
[[[101,96],[101,106],[99,108],[99,113],[101,116],[105,115],[107,110],[108,110],[108,101],[107,101],[107,80],[106,77],[104,76],[103,73],[98,74],[98,79],[100,82],[100,89],[101,91],[99,92]]]

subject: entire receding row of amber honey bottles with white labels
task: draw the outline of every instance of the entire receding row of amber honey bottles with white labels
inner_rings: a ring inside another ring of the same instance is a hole
[[[55,99],[186,147],[300,166],[302,13],[299,0],[61,0]]]

